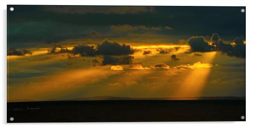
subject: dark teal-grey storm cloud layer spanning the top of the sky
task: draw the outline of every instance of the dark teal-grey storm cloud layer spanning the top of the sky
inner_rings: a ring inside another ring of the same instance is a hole
[[[162,26],[166,29],[169,27],[165,26],[171,26],[173,30],[157,33],[184,38],[214,32],[225,35],[225,40],[245,36],[246,13],[240,12],[245,7],[7,5],[9,7],[15,8],[15,11],[7,11],[11,47],[84,38],[90,36],[91,30],[108,33],[111,25]]]

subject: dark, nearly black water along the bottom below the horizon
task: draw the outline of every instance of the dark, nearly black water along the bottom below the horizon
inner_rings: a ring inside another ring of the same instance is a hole
[[[242,115],[245,116],[245,100],[7,103],[8,123],[245,121],[240,118]],[[10,121],[10,117],[14,120]]]

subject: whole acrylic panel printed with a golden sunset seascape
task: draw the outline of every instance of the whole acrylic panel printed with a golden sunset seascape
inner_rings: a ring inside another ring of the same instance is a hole
[[[7,122],[245,121],[245,14],[7,5]]]

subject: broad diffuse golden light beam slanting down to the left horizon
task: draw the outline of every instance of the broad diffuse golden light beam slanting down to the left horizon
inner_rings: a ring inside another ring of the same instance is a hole
[[[8,86],[8,100],[47,98],[62,98],[85,88],[85,85],[94,84],[108,75],[116,74],[109,70],[109,66],[89,69],[74,69],[61,71],[49,76],[35,77],[20,85]]]

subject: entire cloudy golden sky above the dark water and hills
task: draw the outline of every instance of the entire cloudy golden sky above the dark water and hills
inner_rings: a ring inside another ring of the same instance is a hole
[[[245,7],[7,6],[8,101],[245,97]]]

